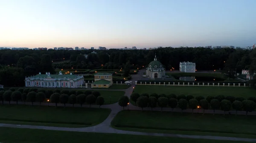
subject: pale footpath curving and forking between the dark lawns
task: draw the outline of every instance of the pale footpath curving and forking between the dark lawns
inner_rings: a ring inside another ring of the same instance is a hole
[[[141,74],[134,75],[135,80],[141,77]],[[134,85],[125,90],[125,95],[130,97],[133,91]],[[16,104],[12,102],[12,104]],[[31,104],[31,103],[28,103]],[[35,103],[34,105],[39,104]],[[47,106],[47,103],[42,105]],[[55,106],[55,104],[49,104],[50,106]],[[63,106],[63,104],[58,104],[58,106]],[[72,106],[68,104],[68,106]],[[80,106],[80,105],[77,105]],[[89,105],[85,105],[84,107],[88,107]],[[92,107],[98,108],[99,106],[93,105]],[[246,141],[246,142],[256,142],[255,139],[251,138],[239,138],[239,137],[220,137],[220,136],[203,136],[203,135],[178,135],[178,134],[163,134],[163,133],[147,133],[147,132],[132,132],[132,131],[124,131],[119,129],[114,129],[111,127],[111,121],[116,116],[118,112],[122,110],[122,107],[118,105],[118,103],[110,104],[110,105],[102,105],[102,108],[110,108],[111,113],[108,115],[108,118],[105,119],[102,123],[84,128],[66,128],[66,127],[53,127],[53,126],[33,126],[33,125],[15,125],[15,124],[5,124],[0,123],[0,127],[12,127],[12,128],[29,128],[29,129],[46,129],[46,130],[58,130],[58,131],[73,131],[73,132],[97,132],[97,133],[115,133],[115,134],[128,134],[128,135],[149,135],[149,136],[159,136],[159,137],[182,137],[182,138],[194,138],[194,139],[210,139],[210,140],[233,140],[233,141]],[[125,107],[127,109],[128,107]],[[133,105],[129,105],[129,109],[132,110],[141,110],[140,107],[135,107]],[[151,110],[151,108],[145,108],[144,110]],[[154,111],[160,111],[160,108],[154,108]],[[171,111],[170,108],[164,108],[163,111]],[[201,109],[195,109],[194,112],[202,112]],[[174,112],[181,112],[180,109],[174,109]],[[183,112],[191,112],[191,109],[184,110]],[[213,113],[212,110],[205,110],[205,113]],[[223,114],[221,110],[215,110],[216,114]],[[231,114],[235,114],[235,111],[231,111]],[[245,112],[239,111],[238,114],[245,114]],[[249,115],[256,115],[256,112],[250,112]]]

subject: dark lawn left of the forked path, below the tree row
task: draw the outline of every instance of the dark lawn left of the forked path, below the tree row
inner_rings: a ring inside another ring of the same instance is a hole
[[[0,123],[86,127],[103,122],[111,109],[2,105]]]

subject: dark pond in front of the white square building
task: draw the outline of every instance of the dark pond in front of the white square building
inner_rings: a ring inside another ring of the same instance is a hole
[[[217,78],[217,77],[203,77],[203,76],[180,76],[176,77],[175,79],[181,80],[181,81],[224,81],[225,79]]]

